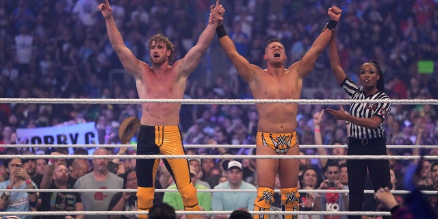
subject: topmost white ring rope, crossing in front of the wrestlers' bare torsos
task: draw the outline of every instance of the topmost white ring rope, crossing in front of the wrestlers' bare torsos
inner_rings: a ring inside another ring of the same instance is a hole
[[[184,103],[248,105],[254,103],[302,103],[302,104],[350,104],[350,103],[394,103],[400,105],[432,104],[436,99],[404,100],[317,100],[317,99],[44,99],[44,98],[0,98],[0,103],[76,103],[76,104],[137,104],[137,103]]]

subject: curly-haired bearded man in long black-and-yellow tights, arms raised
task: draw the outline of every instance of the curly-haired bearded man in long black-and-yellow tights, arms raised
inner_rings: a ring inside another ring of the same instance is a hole
[[[187,78],[198,66],[201,56],[207,50],[218,21],[222,19],[225,10],[216,1],[211,5],[211,21],[199,36],[198,42],[181,60],[172,64],[175,57],[174,46],[168,38],[155,35],[149,40],[149,55],[151,66],[137,59],[125,46],[123,38],[112,17],[112,9],[108,0],[99,5],[99,10],[105,18],[107,34],[123,67],[136,79],[137,92],[140,99],[182,99]],[[188,30],[189,31],[189,30]],[[172,64],[172,65],[171,65]],[[142,103],[140,131],[138,136],[139,155],[183,155],[179,124],[181,103]],[[138,159],[138,209],[149,211],[153,203],[154,179],[159,159]],[[196,189],[190,181],[189,166],[186,159],[166,159],[164,161],[169,172],[177,183],[183,197],[186,210],[199,210]],[[147,218],[140,214],[139,218]],[[188,218],[200,216],[188,215]]]

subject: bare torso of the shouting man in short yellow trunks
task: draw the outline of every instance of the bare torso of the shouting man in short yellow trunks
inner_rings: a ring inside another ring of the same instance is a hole
[[[258,68],[257,66],[254,66]],[[249,83],[255,99],[299,99],[302,80],[294,68],[284,70],[279,75],[267,70],[255,70],[255,80]],[[297,103],[257,103],[259,114],[258,131],[286,133],[296,131]]]

